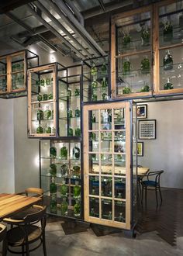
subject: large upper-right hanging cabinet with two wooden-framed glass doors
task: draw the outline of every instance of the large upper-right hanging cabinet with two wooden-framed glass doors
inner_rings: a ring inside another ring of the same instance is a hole
[[[167,0],[112,17],[112,98],[183,93],[182,13]]]

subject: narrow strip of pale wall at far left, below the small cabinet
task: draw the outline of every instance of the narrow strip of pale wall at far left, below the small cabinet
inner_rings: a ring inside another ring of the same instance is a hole
[[[13,101],[0,99],[0,193],[14,192]]]

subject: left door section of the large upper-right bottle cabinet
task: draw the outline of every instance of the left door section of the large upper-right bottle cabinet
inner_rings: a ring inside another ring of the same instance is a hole
[[[152,15],[150,7],[113,16],[112,96],[136,97],[152,91]]]

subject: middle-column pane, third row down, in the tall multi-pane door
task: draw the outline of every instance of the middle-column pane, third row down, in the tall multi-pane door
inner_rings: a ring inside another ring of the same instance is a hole
[[[112,175],[112,154],[101,154],[101,173]]]

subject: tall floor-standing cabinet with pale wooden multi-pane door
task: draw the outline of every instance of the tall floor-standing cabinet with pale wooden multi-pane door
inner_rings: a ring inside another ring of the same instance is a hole
[[[83,116],[85,221],[132,230],[136,212],[133,104],[86,105]]]

